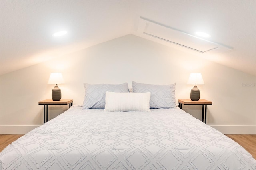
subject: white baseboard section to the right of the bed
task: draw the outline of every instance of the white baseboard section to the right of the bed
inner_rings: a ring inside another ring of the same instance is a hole
[[[211,125],[210,125],[211,126]],[[256,134],[256,126],[214,126],[211,127],[219,130],[223,134]]]

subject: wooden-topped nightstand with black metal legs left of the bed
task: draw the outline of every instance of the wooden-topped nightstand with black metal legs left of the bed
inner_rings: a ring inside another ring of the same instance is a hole
[[[59,101],[53,101],[52,99],[46,99],[38,102],[38,105],[44,105],[44,123],[48,122],[48,105],[73,105],[72,99],[62,99]],[[46,106],[46,121],[45,121],[45,106]]]

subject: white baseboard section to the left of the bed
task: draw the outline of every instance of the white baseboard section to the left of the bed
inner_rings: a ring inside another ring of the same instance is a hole
[[[26,134],[38,126],[0,126],[0,134]]]

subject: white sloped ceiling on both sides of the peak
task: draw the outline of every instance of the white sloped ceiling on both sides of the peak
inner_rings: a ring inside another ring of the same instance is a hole
[[[0,1],[1,75],[127,34],[256,75],[256,1]],[[140,17],[230,47],[189,49],[138,32]],[[54,32],[67,30],[62,37]]]

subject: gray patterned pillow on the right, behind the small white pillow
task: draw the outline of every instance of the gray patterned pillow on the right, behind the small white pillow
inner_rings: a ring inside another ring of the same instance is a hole
[[[132,82],[134,93],[150,92],[150,109],[176,109],[175,85],[151,85]]]

